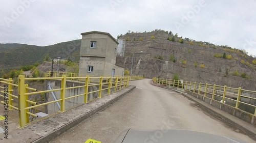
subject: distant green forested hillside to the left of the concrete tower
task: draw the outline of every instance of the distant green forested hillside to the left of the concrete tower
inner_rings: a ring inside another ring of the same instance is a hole
[[[46,54],[49,54],[50,58],[53,59],[58,56],[62,59],[69,59],[73,56],[73,59],[78,61],[79,54],[76,54],[80,50],[80,41],[73,40],[43,47],[20,44],[21,46],[14,48],[17,44],[1,44],[2,47],[0,48],[5,50],[0,51],[0,70],[41,63]]]

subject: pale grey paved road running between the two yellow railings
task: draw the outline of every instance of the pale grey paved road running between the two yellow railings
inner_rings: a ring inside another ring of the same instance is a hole
[[[137,89],[108,108],[58,136],[53,142],[85,142],[88,138],[113,142],[120,132],[136,129],[184,129],[255,142],[218,120],[181,94],[155,87],[150,79],[132,81]]]

